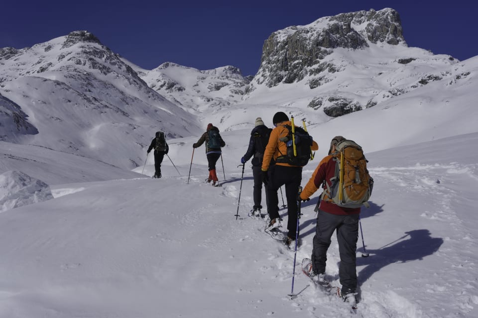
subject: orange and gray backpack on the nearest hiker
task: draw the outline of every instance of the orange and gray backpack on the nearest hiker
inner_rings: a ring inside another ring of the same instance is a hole
[[[368,174],[367,160],[362,147],[353,140],[343,140],[336,145],[331,160],[336,162],[335,176],[324,181],[321,199],[344,208],[369,207],[373,179]]]

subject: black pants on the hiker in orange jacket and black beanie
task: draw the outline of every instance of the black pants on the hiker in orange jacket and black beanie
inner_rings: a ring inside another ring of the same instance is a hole
[[[287,236],[295,239],[297,230],[297,194],[302,181],[302,167],[274,165],[269,167],[269,183],[266,191],[269,193],[267,212],[270,219],[279,217],[279,197],[277,191],[285,185],[287,198]]]

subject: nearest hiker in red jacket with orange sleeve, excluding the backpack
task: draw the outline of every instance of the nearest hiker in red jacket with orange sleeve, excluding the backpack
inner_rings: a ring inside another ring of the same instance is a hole
[[[330,179],[335,176],[336,169],[336,162],[332,155],[336,152],[335,146],[342,140],[345,140],[342,136],[336,136],[332,139],[329,155],[319,163],[304,190],[297,198],[298,201],[308,200],[319,188],[326,189],[326,187],[331,186]],[[327,185],[324,182],[327,182]],[[357,295],[356,250],[359,238],[359,213],[360,208],[342,208],[333,202],[320,201],[316,232],[313,239],[312,263],[307,269],[313,279],[316,279],[319,283],[324,282],[327,250],[331,243],[331,237],[336,232],[340,254],[341,294],[344,300],[349,303],[354,303]]]

